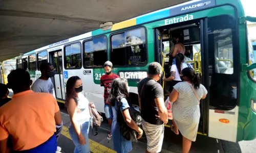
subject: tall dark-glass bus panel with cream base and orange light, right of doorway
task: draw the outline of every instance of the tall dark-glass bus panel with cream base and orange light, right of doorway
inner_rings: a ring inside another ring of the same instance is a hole
[[[221,24],[220,24],[221,23]],[[202,60],[208,90],[208,136],[236,142],[239,111],[239,43],[237,21],[229,15],[206,18]]]

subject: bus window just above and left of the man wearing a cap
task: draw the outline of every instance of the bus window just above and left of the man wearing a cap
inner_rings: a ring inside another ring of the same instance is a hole
[[[95,38],[83,43],[84,67],[102,67],[108,60],[106,52],[106,37]]]

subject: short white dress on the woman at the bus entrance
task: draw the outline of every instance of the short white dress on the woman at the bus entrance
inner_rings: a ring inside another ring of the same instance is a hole
[[[194,86],[192,85],[194,88]],[[200,108],[198,99],[188,82],[180,82],[174,86],[179,93],[178,99],[173,104],[173,117],[179,131],[185,138],[196,141]],[[207,94],[207,90],[200,84],[200,88],[195,89],[198,97],[201,99]]]

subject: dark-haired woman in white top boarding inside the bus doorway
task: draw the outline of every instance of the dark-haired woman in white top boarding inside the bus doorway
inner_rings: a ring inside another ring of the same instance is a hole
[[[163,77],[163,81],[172,81],[170,83],[169,91],[172,92],[174,89],[174,86],[181,82],[180,79],[180,73],[181,70],[186,68],[186,67],[191,67],[190,64],[184,63],[184,55],[183,54],[177,54],[176,55],[176,64],[173,64],[172,67],[170,68],[170,77],[165,78]]]

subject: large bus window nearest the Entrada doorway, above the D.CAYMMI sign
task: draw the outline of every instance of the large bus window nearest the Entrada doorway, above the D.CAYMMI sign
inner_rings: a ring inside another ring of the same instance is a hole
[[[113,65],[143,65],[146,63],[145,29],[139,28],[111,36],[110,59]]]

